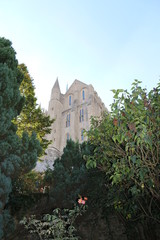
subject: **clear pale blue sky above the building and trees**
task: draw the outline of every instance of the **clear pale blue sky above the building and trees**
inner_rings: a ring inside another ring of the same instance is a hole
[[[45,109],[57,77],[62,93],[75,79],[92,84],[108,108],[111,89],[160,78],[160,0],[0,0],[0,36]]]

